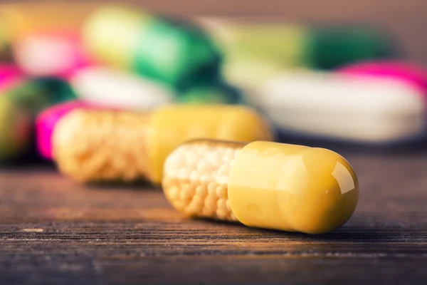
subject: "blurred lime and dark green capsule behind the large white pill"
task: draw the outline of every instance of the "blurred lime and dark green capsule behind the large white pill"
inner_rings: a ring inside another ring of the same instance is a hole
[[[268,21],[201,18],[224,51],[226,80],[257,88],[289,68],[333,69],[394,55],[387,33],[372,27],[302,26]]]

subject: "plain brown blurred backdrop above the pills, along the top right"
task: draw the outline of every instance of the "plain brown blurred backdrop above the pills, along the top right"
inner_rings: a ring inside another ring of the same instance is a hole
[[[127,1],[121,1],[125,3]],[[290,23],[359,23],[386,28],[402,43],[406,56],[427,64],[426,1],[399,0],[361,1],[193,1],[179,2],[130,1],[153,11],[163,11],[182,16],[237,16],[275,18]]]

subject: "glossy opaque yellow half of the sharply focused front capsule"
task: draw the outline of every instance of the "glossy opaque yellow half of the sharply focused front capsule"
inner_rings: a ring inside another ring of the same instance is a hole
[[[331,150],[251,142],[233,162],[228,197],[248,226],[322,234],[352,216],[358,189],[352,167]]]

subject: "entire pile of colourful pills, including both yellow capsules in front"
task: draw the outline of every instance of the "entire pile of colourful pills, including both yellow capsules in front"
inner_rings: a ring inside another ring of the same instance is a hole
[[[354,212],[354,170],[274,140],[427,137],[427,71],[387,33],[194,20],[1,4],[0,162],[36,150],[76,182],[162,185],[190,217],[320,234]]]

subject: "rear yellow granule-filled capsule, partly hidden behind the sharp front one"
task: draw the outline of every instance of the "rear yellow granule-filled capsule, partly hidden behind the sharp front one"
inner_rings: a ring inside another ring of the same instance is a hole
[[[195,138],[253,141],[271,140],[272,135],[263,118],[243,106],[172,105],[153,113],[82,109],[65,115],[54,128],[53,157],[61,172],[80,182],[160,183],[167,155]],[[174,175],[211,180],[202,175],[209,165],[184,156],[176,162],[185,160],[194,171],[180,169]]]

